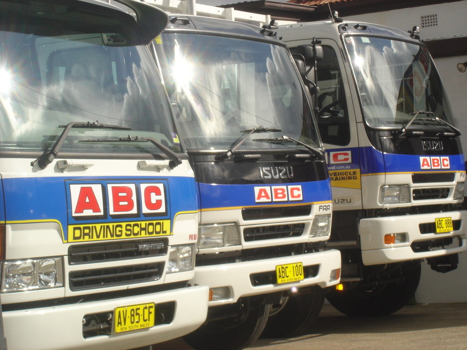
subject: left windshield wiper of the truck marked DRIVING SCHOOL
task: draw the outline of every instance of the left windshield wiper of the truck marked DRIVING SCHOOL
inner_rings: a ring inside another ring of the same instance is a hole
[[[37,158],[35,161],[31,162],[31,167],[34,167],[36,165],[40,169],[45,169],[50,163],[53,162],[55,157],[57,157],[58,152],[60,152],[60,149],[63,146],[63,143],[65,142],[65,139],[67,135],[70,133],[71,128],[82,128],[82,129],[114,129],[114,130],[132,130],[132,128],[127,128],[124,126],[119,126],[119,125],[110,125],[110,124],[101,124],[99,122],[71,122],[68,123],[67,125],[59,125],[58,127],[60,128],[65,128],[63,129],[62,133],[58,137],[58,139],[54,142],[52,148],[50,151],[44,151],[42,155]]]

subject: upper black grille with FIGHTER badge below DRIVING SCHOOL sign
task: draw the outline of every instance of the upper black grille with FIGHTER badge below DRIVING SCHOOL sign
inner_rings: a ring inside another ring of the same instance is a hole
[[[68,263],[96,263],[125,259],[159,257],[167,254],[168,240],[137,240],[71,246]]]

